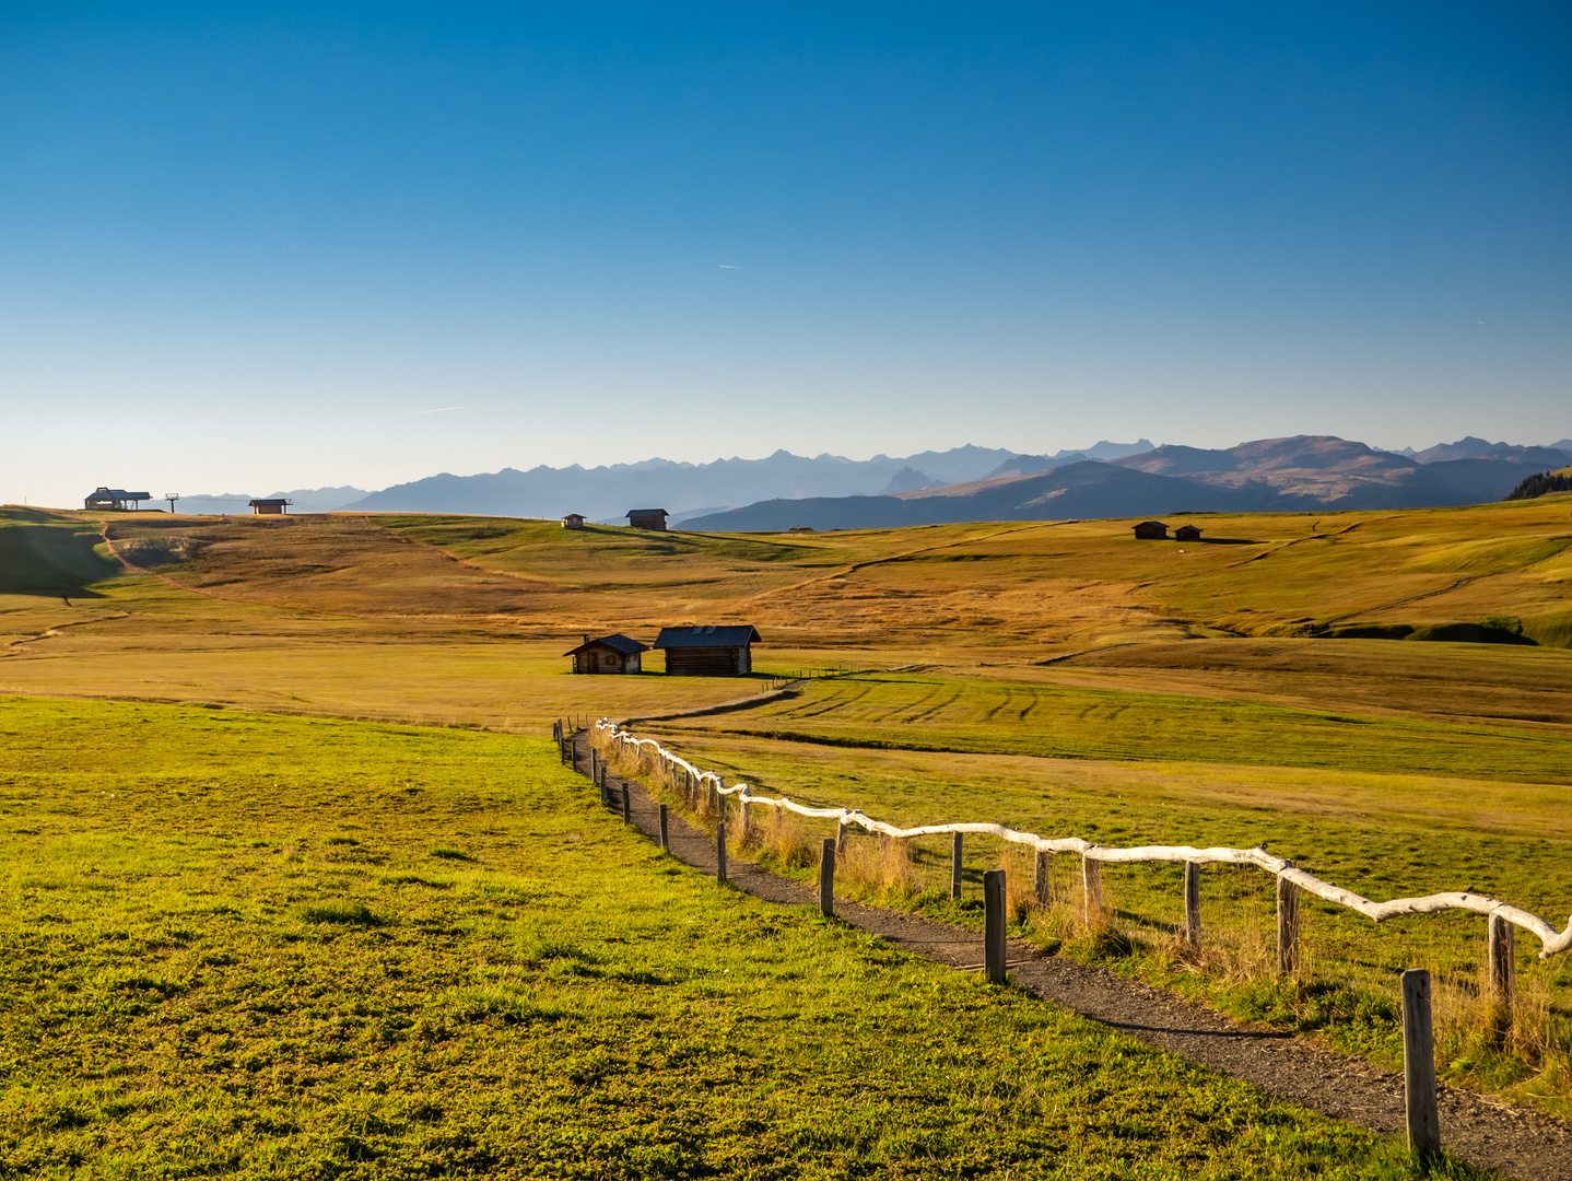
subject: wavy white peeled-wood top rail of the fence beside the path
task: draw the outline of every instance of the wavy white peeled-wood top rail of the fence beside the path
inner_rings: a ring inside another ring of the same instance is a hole
[[[726,796],[744,796],[753,807],[783,808],[784,811],[792,811],[799,816],[833,819],[839,821],[843,829],[849,824],[855,824],[865,832],[877,832],[883,837],[896,840],[904,840],[907,837],[938,837],[951,832],[978,832],[989,837],[998,837],[1000,840],[1011,841],[1014,844],[1025,844],[1038,852],[1075,852],[1089,862],[1220,862],[1228,865],[1254,865],[1284,882],[1297,885],[1300,890],[1313,893],[1324,901],[1346,906],[1376,923],[1383,923],[1388,918],[1398,918],[1401,915],[1437,914],[1440,911],[1473,911],[1475,914],[1501,918],[1537,936],[1541,944],[1541,959],[1572,950],[1572,917],[1567,918],[1564,931],[1556,931],[1555,926],[1547,923],[1539,915],[1509,906],[1498,898],[1462,892],[1432,893],[1424,895],[1423,898],[1393,898],[1387,903],[1372,903],[1369,898],[1357,895],[1352,890],[1344,890],[1341,885],[1333,885],[1313,873],[1295,868],[1292,862],[1287,862],[1283,857],[1273,857],[1265,851],[1265,844],[1256,849],[1196,849],[1190,844],[1140,844],[1130,849],[1116,849],[1105,844],[1094,844],[1088,840],[1082,840],[1080,837],[1038,837],[1034,832],[1020,832],[1003,824],[923,824],[915,829],[901,829],[894,824],[876,821],[872,816],[868,816],[858,808],[810,808],[803,804],[795,804],[784,796],[755,796],[753,788],[747,783],[734,783],[728,788],[722,783],[720,775],[711,771],[700,771],[682,756],[667,750],[656,739],[635,738],[618,727],[616,722],[607,719],[596,722],[593,733],[602,741],[608,741],[621,747],[624,752],[634,753],[635,758],[652,755],[668,772],[674,772],[678,769],[685,771],[701,783],[707,783],[722,800]]]

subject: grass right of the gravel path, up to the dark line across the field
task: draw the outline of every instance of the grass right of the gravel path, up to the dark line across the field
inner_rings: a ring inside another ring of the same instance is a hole
[[[733,716],[734,717],[734,716]],[[717,719],[718,720],[718,719]],[[1394,767],[1387,772],[1303,767],[1132,764],[1030,755],[956,755],[899,749],[784,744],[660,723],[659,733],[700,766],[756,794],[824,807],[857,807],[915,827],[946,821],[1008,822],[1044,837],[1102,844],[1269,844],[1338,885],[1385,900],[1467,889],[1512,901],[1552,922],[1572,903],[1572,811],[1563,788],[1481,782]],[[887,731],[888,733],[888,731]],[[678,804],[679,796],[667,793]],[[810,879],[832,821],[773,813],[758,833],[778,871]],[[707,816],[695,816],[706,822]],[[736,818],[733,818],[736,819]],[[855,832],[855,830],[854,830]],[[1177,988],[1240,1017],[1314,1033],[1338,1049],[1401,1068],[1398,977],[1435,977],[1438,1068],[1445,1079],[1572,1113],[1572,961],[1539,961],[1517,937],[1517,1019],[1503,1032],[1484,997],[1486,922],[1448,912],[1374,925],[1313,900],[1302,906],[1302,972],[1275,977],[1275,893],[1253,868],[1207,866],[1204,948],[1179,939],[1182,866],[1102,868],[1108,926],[1083,922],[1080,863],[1052,859],[1053,901],[1033,900],[1033,865],[1016,846],[967,838],[965,890],[949,900],[949,838],[882,849],[850,837],[839,873],[855,896],[981,926],[984,870],[1009,871],[1016,933],[1042,947],[1096,959]],[[1116,939],[1110,940],[1108,936]]]

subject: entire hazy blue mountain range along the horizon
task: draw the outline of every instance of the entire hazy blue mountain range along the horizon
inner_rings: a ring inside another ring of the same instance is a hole
[[[1500,500],[1534,470],[1572,464],[1572,439],[1519,447],[1459,439],[1377,451],[1331,436],[1267,439],[1226,450],[1102,440],[1053,454],[956,447],[846,459],[777,451],[711,464],[648,459],[604,467],[434,475],[380,492],[270,492],[296,511],[467,513],[619,524],[665,508],[684,528],[850,528],[924,521],[1056,519],[1190,510],[1398,508]],[[189,495],[182,513],[247,513],[252,494]]]

